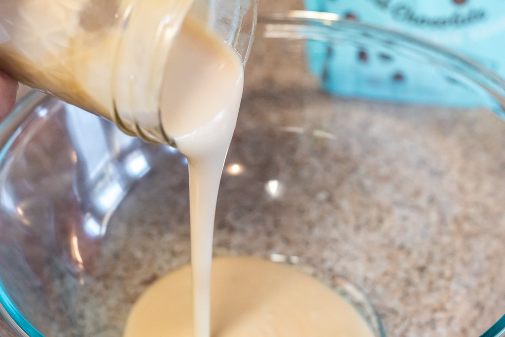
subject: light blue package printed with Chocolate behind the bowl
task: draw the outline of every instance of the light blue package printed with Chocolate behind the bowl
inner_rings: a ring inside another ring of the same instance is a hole
[[[503,0],[304,0],[335,13],[433,42],[505,77]],[[343,96],[455,107],[478,105],[467,79],[384,43],[307,42],[307,63],[324,89]]]

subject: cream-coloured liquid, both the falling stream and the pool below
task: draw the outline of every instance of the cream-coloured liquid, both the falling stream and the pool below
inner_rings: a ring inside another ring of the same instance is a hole
[[[147,290],[130,313],[124,336],[372,337],[345,300],[285,266],[218,259],[211,282],[216,200],[242,88],[238,55],[186,19],[167,62],[161,118],[188,158],[191,266]]]

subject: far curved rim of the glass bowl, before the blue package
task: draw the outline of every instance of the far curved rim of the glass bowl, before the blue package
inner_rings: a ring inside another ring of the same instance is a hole
[[[340,20],[332,13],[290,11],[261,15],[258,23],[265,26],[270,37],[335,43],[369,41],[392,47],[403,56],[428,61],[474,84],[480,91],[481,106],[505,120],[505,80],[480,63],[432,42],[379,26]]]

